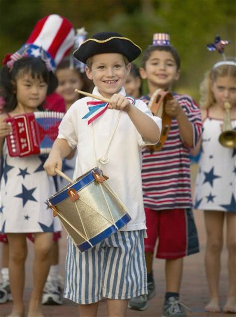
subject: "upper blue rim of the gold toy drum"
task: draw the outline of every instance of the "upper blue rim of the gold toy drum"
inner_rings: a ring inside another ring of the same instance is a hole
[[[84,188],[85,186],[89,185],[90,183],[92,183],[93,181],[95,181],[94,179],[94,172],[98,173],[99,175],[102,174],[101,170],[98,167],[95,167],[93,169],[91,169],[88,173],[86,173],[86,175],[82,177],[81,179],[79,179],[76,183],[67,186],[62,192],[56,193],[55,195],[52,195],[50,198],[47,199],[47,201],[55,206],[57,204],[59,204],[60,202],[62,202],[64,199],[68,198],[68,194],[67,191],[70,188],[74,188],[76,191],[81,190],[82,188]],[[80,178],[78,177],[78,178]]]

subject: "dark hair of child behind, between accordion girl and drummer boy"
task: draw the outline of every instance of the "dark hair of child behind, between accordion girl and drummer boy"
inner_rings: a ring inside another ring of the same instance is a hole
[[[78,66],[79,66],[79,62],[73,56],[66,57],[57,66],[57,71],[63,70],[66,68],[70,68],[71,70],[74,70],[78,74],[79,78],[81,79],[83,83],[81,90],[85,92],[91,92],[92,90],[91,83],[89,79],[87,78],[86,74],[84,72],[81,72]]]

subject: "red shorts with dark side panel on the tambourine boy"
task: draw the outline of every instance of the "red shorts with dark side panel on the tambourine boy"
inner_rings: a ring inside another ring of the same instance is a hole
[[[199,252],[197,229],[191,209],[153,210],[145,208],[147,237],[145,251],[160,259],[177,259]]]

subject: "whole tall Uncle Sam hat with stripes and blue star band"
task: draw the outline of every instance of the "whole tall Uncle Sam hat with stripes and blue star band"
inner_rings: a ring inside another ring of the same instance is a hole
[[[40,57],[49,70],[55,71],[74,42],[75,30],[72,24],[58,14],[51,14],[36,23],[26,43],[14,54],[8,55],[3,64],[12,68],[14,62],[22,57]]]

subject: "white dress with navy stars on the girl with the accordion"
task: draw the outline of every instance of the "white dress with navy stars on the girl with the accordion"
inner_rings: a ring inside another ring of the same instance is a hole
[[[1,233],[61,231],[46,200],[56,193],[54,180],[43,169],[46,156],[10,157],[3,146]]]

